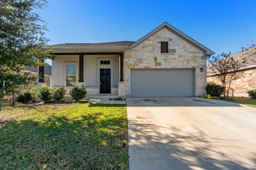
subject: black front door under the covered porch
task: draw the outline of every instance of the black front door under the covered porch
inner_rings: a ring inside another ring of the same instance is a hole
[[[100,93],[111,94],[111,69],[100,69]]]

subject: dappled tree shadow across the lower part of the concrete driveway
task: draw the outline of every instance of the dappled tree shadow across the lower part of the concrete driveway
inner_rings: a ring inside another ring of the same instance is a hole
[[[138,117],[137,117],[138,118]],[[166,130],[158,131],[158,130]],[[247,167],[242,160],[230,158],[219,147],[229,151],[239,147],[225,146],[226,139],[209,137],[202,131],[188,134],[181,129],[156,126],[144,122],[129,121],[129,156],[132,169],[252,169],[255,165]],[[214,141],[214,146],[212,141]],[[230,141],[233,142],[233,141]],[[256,155],[250,162],[256,163]],[[146,166],[145,166],[146,165]]]

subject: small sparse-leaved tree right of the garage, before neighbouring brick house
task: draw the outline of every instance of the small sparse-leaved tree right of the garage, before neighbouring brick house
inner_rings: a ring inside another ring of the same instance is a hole
[[[231,84],[243,76],[244,72],[241,69],[246,66],[246,59],[234,60],[230,53],[222,53],[210,57],[209,63],[208,69],[221,82],[224,98],[228,98]]]

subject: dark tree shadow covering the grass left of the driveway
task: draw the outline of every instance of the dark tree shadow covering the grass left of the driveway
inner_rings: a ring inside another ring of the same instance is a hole
[[[0,124],[0,169],[127,169],[126,118],[100,116]]]

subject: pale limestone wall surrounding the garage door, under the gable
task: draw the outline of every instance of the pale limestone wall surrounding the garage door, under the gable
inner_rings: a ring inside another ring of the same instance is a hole
[[[161,41],[169,41],[169,53],[161,54]],[[125,94],[130,95],[130,69],[193,68],[196,70],[196,95],[205,94],[206,56],[202,50],[163,28],[124,55]],[[201,72],[200,68],[204,71]]]

